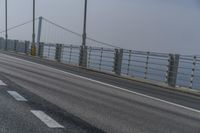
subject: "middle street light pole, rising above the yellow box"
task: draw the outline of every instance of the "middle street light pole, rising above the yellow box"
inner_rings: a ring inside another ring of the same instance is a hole
[[[35,46],[35,0],[33,0],[33,34],[32,34],[32,45],[31,45],[31,55],[36,55],[36,46]]]

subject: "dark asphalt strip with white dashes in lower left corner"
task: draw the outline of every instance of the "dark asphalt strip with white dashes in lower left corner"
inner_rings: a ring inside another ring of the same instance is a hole
[[[0,133],[88,132],[103,133],[0,74]]]

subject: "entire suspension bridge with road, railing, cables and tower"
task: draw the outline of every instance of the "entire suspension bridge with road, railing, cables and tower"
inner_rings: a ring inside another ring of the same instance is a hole
[[[83,47],[81,34],[35,21],[36,56],[28,38],[0,39],[0,132],[200,132],[200,56],[90,37]],[[8,31],[17,36],[31,22]]]

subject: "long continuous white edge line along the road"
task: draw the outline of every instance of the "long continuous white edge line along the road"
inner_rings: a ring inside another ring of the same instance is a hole
[[[5,54],[3,54],[3,55],[5,55]],[[5,55],[5,56],[8,56],[8,55]],[[19,58],[13,57],[13,56],[8,56],[8,57],[12,58],[12,59],[15,59],[15,60],[27,62],[27,63],[34,64],[34,65],[38,65],[38,66],[41,66],[41,67],[47,67],[49,69],[56,70],[56,71],[59,71],[59,72],[62,72],[62,73],[65,73],[65,74],[68,74],[68,75],[71,75],[71,76],[74,76],[74,77],[78,77],[78,78],[81,78],[81,79],[92,81],[94,83],[98,83],[98,84],[101,84],[101,85],[105,85],[105,86],[109,86],[109,87],[112,87],[112,88],[116,88],[118,90],[122,90],[122,91],[125,91],[125,92],[128,92],[128,93],[136,94],[136,95],[139,95],[139,96],[142,96],[142,97],[146,97],[146,98],[149,98],[149,99],[152,99],[152,100],[155,100],[155,101],[160,101],[160,102],[163,102],[163,103],[167,103],[167,104],[170,104],[170,105],[173,105],[173,106],[176,106],[176,107],[180,107],[180,108],[192,111],[192,112],[200,113],[200,110],[197,110],[197,109],[194,109],[194,108],[186,107],[186,106],[183,106],[183,105],[180,105],[180,104],[172,103],[172,102],[169,102],[169,101],[166,101],[166,100],[162,100],[162,99],[159,99],[159,98],[155,98],[155,97],[152,97],[152,96],[148,96],[148,95],[145,95],[145,94],[142,94],[142,93],[138,93],[138,92],[135,92],[135,91],[127,90],[127,89],[122,88],[122,87],[118,87],[118,86],[114,86],[114,85],[111,85],[111,84],[107,84],[107,83],[104,83],[104,82],[101,82],[101,81],[97,81],[97,80],[94,80],[94,79],[91,79],[91,78],[83,77],[83,76],[76,75],[76,74],[73,74],[73,73],[70,73],[70,72],[66,72],[66,71],[63,71],[63,70],[52,68],[52,67],[49,67],[49,66],[46,66],[46,65],[42,65],[42,64],[35,63],[35,62],[19,59]]]

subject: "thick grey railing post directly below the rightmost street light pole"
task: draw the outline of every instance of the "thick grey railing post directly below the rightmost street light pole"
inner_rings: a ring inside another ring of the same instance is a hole
[[[87,46],[80,46],[79,66],[87,67]]]

